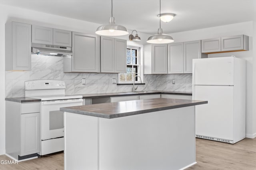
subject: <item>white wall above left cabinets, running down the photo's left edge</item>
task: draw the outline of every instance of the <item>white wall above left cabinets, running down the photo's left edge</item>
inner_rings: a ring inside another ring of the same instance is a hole
[[[4,25],[7,21],[17,21],[23,23],[30,23],[46,27],[54,27],[59,29],[66,29],[77,32],[84,32],[95,34],[95,31],[100,24],[91,23],[82,20],[75,20],[71,18],[46,14],[42,12],[16,8],[12,6],[0,5],[0,155],[5,153],[5,51],[4,51]],[[108,20],[106,21],[108,23]],[[129,31],[129,30],[128,30]],[[129,31],[131,33],[131,31]],[[131,44],[144,44],[149,35],[139,33],[142,39],[139,43],[131,42]],[[128,35],[118,37],[127,39]]]

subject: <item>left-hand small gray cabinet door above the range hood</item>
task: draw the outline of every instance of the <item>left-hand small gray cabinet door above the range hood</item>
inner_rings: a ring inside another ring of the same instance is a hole
[[[53,28],[32,25],[32,43],[53,44]]]

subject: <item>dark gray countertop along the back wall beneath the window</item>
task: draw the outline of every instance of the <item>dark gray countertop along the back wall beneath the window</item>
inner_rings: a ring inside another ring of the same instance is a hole
[[[178,94],[192,96],[192,92],[170,92],[170,91],[145,91],[145,92],[116,92],[116,93],[96,93],[96,94],[79,94],[83,98],[103,98],[103,97],[116,97],[116,96],[132,96],[144,94]]]

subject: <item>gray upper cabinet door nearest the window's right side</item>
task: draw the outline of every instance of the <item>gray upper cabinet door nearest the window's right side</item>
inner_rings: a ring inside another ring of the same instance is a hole
[[[152,45],[152,74],[167,74],[167,44]]]

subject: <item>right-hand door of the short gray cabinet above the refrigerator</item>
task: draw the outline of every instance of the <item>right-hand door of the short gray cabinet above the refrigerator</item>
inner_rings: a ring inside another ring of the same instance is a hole
[[[221,51],[234,51],[244,49],[244,35],[221,38]]]

